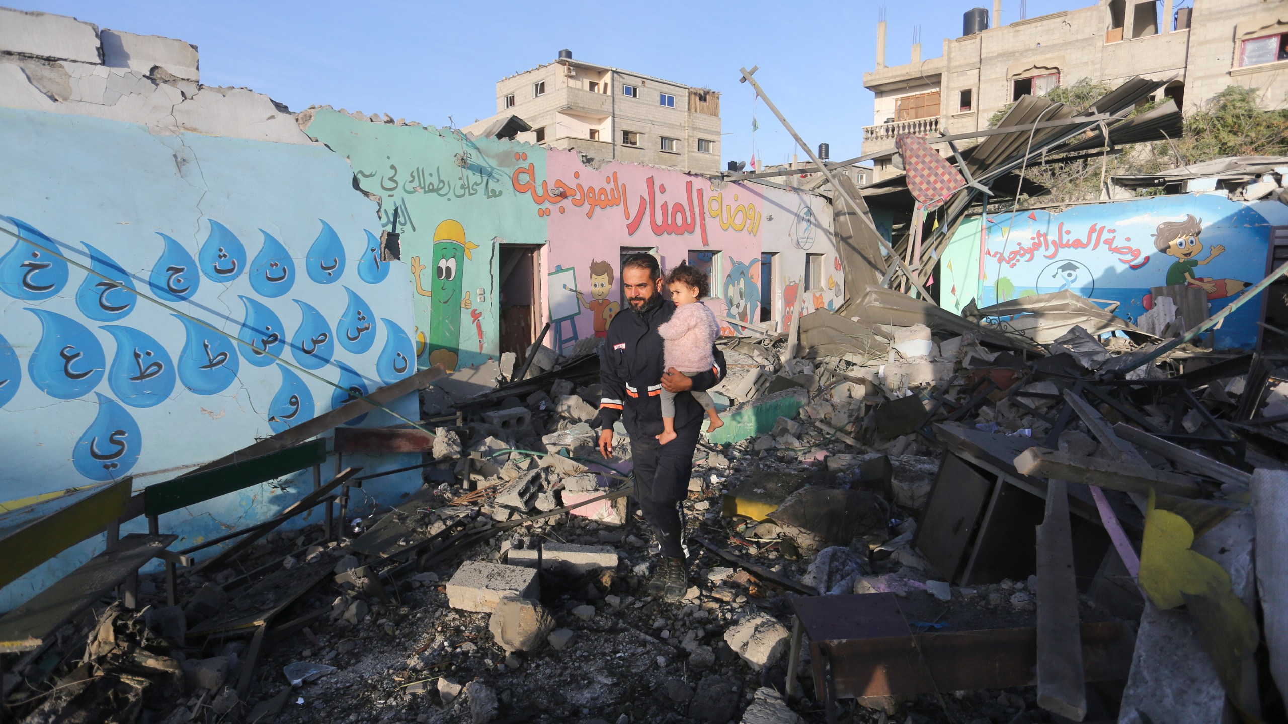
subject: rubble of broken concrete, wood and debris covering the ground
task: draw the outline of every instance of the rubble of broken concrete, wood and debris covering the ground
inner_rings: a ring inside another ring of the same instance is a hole
[[[1239,703],[1260,706],[1247,679],[1211,665],[1185,679],[1163,653],[1251,656],[1206,631],[1248,635],[1238,612],[1256,604],[1258,511],[1245,468],[1279,469],[1288,452],[1276,363],[1198,345],[1146,359],[1157,338],[1095,319],[1088,331],[1061,300],[1036,301],[1064,314],[1052,330],[988,310],[976,317],[989,323],[899,325],[923,303],[882,312],[875,296],[866,314],[806,316],[796,356],[787,336],[720,341],[729,374],[714,392],[729,423],[694,457],[679,603],[645,593],[657,545],[630,496],[630,439],[618,426],[614,456],[596,450],[598,356],[580,344],[585,354],[536,356],[547,368],[482,392],[477,371],[434,389],[425,486],[401,505],[357,497],[339,537],[321,524],[274,531],[213,569],[180,567],[176,605],[162,575],[144,576],[138,612],[113,604],[66,627],[41,675],[6,675],[8,711],[31,723],[99,707],[157,723],[983,724],[1081,706],[1087,720],[1198,721],[1240,681],[1253,694]],[[1158,526],[1189,531],[1185,555],[1229,571],[1182,591],[1189,614],[1159,605],[1180,594],[1163,590],[1172,563]],[[869,613],[811,608],[829,600]],[[1088,691],[1118,681],[1118,694],[1045,688],[1043,621],[1056,614],[1100,652]],[[1271,624],[1266,609],[1267,635]],[[942,669],[935,642],[956,634],[985,653],[1037,638],[1038,654],[1015,671]],[[931,685],[855,679],[864,661],[899,658],[820,648],[895,639],[914,642]],[[1171,703],[1158,687],[1177,689]],[[1182,709],[1189,719],[1170,718]]]

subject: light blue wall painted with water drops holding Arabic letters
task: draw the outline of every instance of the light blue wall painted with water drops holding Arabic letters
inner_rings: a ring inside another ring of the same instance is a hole
[[[376,205],[341,156],[13,108],[0,108],[0,228],[33,242],[0,234],[0,500],[131,474],[140,490],[415,372],[411,274],[371,252]],[[415,420],[415,395],[393,408]],[[368,473],[415,461],[345,459]],[[390,502],[420,479],[371,483]],[[256,486],[162,529],[185,548],[310,488],[312,475]],[[6,586],[0,611],[100,549]]]

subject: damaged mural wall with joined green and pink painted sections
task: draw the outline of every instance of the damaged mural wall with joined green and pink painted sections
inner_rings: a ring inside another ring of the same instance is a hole
[[[504,243],[541,245],[541,322],[553,321],[547,344],[560,352],[601,334],[621,309],[621,259],[634,250],[656,252],[665,269],[710,264],[708,304],[746,322],[761,321],[766,280],[773,322],[799,296],[806,310],[836,308],[844,298],[832,210],[819,196],[714,184],[653,166],[594,169],[571,151],[363,119],[318,108],[300,122],[350,161],[355,183],[381,200],[381,223],[401,234],[417,295],[421,366],[464,367],[498,354],[504,300],[495,246]],[[777,254],[772,273],[761,254]],[[809,290],[806,255],[817,255],[811,263],[820,269]],[[455,278],[444,280],[440,264]]]

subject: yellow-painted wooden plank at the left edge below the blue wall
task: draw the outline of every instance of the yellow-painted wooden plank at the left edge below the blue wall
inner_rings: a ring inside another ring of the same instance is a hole
[[[108,483],[0,537],[0,587],[120,518],[133,484],[133,477]]]

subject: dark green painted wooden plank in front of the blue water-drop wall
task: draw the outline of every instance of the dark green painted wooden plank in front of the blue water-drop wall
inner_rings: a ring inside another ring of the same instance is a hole
[[[188,473],[143,491],[143,514],[162,515],[222,495],[312,468],[326,460],[326,441],[316,439],[285,450]]]

